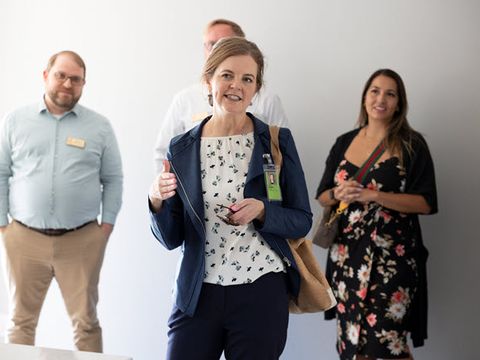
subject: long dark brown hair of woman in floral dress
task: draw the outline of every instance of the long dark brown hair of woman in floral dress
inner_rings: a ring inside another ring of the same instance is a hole
[[[395,81],[397,84],[398,105],[391,121],[387,127],[387,135],[384,139],[385,148],[391,154],[398,154],[400,161],[403,162],[403,151],[406,150],[408,155],[412,154],[412,140],[415,131],[412,129],[407,120],[408,101],[407,92],[402,78],[398,73],[391,69],[379,69],[368,78],[362,92],[362,100],[360,104],[360,114],[358,115],[357,125],[364,127],[368,125],[368,114],[365,110],[365,96],[372,82],[378,76],[386,76]]]

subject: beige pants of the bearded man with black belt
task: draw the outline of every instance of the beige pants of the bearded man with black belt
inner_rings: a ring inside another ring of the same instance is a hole
[[[102,352],[98,280],[107,238],[93,222],[62,236],[45,236],[12,222],[2,236],[10,327],[7,342],[34,345],[40,310],[55,277],[78,350]]]

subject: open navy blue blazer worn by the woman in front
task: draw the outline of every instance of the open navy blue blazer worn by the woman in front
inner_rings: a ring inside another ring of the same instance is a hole
[[[281,128],[283,155],[280,186],[282,201],[269,202],[263,177],[263,154],[271,154],[268,125],[247,113],[254,125],[255,145],[244,188],[245,198],[261,200],[265,205],[263,223],[254,221],[256,230],[287,265],[289,292],[298,295],[300,277],[286,239],[305,236],[312,226],[312,213],[297,149],[290,130]],[[200,137],[210,119],[172,139],[167,158],[177,177],[177,193],[165,200],[158,213],[150,210],[151,229],[167,249],[182,247],[180,266],[174,287],[175,305],[193,316],[205,272],[205,223],[200,178]]]

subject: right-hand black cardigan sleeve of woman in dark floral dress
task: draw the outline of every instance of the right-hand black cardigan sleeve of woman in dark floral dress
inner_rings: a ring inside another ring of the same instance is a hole
[[[430,205],[430,214],[435,214],[438,211],[438,205],[432,156],[427,142],[419,133],[414,134],[412,147],[412,154],[410,156],[405,154],[408,161],[405,192],[422,195]]]

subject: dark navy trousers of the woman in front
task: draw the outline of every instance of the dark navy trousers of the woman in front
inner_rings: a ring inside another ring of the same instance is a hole
[[[284,273],[250,284],[204,283],[193,317],[174,307],[168,360],[277,360],[287,340],[288,294]]]

